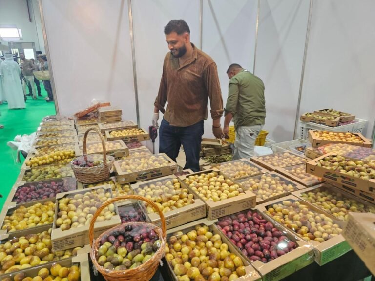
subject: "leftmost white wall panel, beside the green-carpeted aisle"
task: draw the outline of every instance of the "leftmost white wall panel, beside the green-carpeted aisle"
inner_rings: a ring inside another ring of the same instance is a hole
[[[136,121],[126,0],[42,0],[60,113],[92,99],[123,109]]]

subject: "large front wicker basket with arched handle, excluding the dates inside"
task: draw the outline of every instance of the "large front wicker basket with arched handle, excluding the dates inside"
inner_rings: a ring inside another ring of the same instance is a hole
[[[155,226],[151,223],[146,223],[146,222],[127,222],[127,223],[120,224],[118,226],[115,226],[105,231],[97,239],[94,239],[94,223],[96,221],[96,218],[100,215],[100,213],[103,211],[103,209],[106,206],[116,201],[124,200],[124,199],[141,200],[153,206],[156,210],[158,210],[160,221],[162,223],[162,228]],[[145,263],[141,264],[140,266],[136,268],[127,269],[127,270],[107,270],[98,264],[97,257],[96,257],[98,253],[100,241],[104,235],[107,235],[111,231],[117,230],[120,227],[123,227],[124,225],[125,226],[126,225],[152,226],[153,230],[159,236],[159,239],[162,241],[162,244],[160,248],[157,250],[157,252],[152,256],[152,258],[150,258],[148,261],[146,261]],[[105,280],[107,281],[148,281],[154,276],[156,270],[158,269],[160,260],[164,257],[164,250],[166,246],[166,221],[164,219],[163,212],[151,200],[145,197],[139,196],[139,195],[124,195],[124,196],[119,196],[119,197],[107,200],[95,212],[90,222],[88,235],[89,235],[90,246],[91,246],[90,256],[91,256],[92,263],[95,265],[96,269],[103,275]]]

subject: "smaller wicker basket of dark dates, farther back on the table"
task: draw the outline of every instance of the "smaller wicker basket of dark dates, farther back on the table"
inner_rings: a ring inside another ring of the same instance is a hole
[[[86,141],[87,141],[87,135],[90,131],[96,131],[99,134],[102,140],[103,155],[101,154],[90,154],[89,156],[87,155]],[[107,156],[106,154],[107,154],[107,151],[105,149],[105,143],[104,143],[102,134],[96,128],[89,128],[84,133],[84,137],[83,137],[83,156],[80,156],[79,158],[76,158],[76,159],[84,159],[84,161],[87,161],[87,158],[103,157],[103,163],[94,167],[79,167],[73,164],[74,160],[71,161],[70,165],[72,167],[72,170],[77,180],[83,183],[94,183],[94,182],[104,181],[108,179],[115,159],[112,156]]]

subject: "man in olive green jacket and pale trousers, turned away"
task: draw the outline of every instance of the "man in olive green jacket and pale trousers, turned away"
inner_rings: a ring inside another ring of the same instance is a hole
[[[254,156],[255,140],[266,117],[264,84],[237,63],[229,66],[227,74],[230,80],[223,133],[228,138],[233,119],[236,131],[233,160],[250,158]]]

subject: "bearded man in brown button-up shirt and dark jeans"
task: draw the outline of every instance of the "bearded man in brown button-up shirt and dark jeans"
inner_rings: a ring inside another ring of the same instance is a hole
[[[182,144],[186,155],[184,169],[199,171],[208,98],[213,120],[212,132],[216,138],[223,137],[220,118],[224,109],[217,67],[207,54],[190,42],[190,29],[184,20],[169,21],[164,33],[170,52],[164,58],[152,118],[152,124],[158,127],[159,110],[164,114],[159,129],[159,152],[166,153],[176,161]]]

